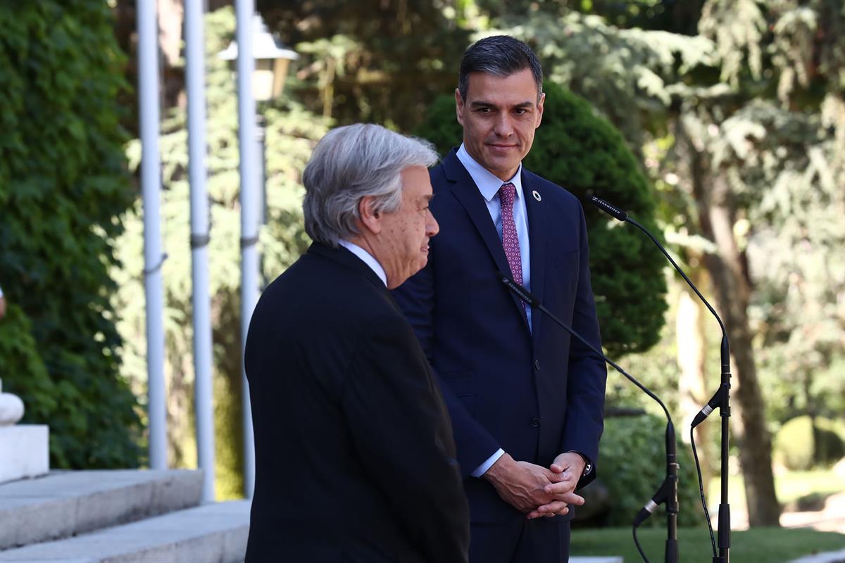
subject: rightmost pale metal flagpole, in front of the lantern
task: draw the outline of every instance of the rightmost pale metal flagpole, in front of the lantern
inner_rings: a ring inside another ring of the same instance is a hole
[[[253,414],[249,403],[249,385],[243,371],[243,349],[247,343],[249,320],[259,299],[259,198],[256,174],[255,100],[252,79],[253,0],[236,0],[237,17],[237,140],[241,171],[241,374],[243,382],[243,495],[251,499],[255,489],[255,446]]]

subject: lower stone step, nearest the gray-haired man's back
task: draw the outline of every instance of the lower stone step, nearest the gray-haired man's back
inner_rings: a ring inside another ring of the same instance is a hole
[[[210,503],[18,549],[3,563],[240,563],[250,501]]]

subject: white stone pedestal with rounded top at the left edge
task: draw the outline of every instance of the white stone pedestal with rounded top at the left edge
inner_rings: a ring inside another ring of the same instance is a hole
[[[36,477],[50,471],[50,440],[46,425],[18,425],[24,402],[3,392],[0,380],[0,483]]]

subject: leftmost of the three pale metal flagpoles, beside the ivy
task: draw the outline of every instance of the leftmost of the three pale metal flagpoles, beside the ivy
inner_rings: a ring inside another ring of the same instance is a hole
[[[158,26],[155,2],[137,0],[138,99],[141,130],[141,189],[144,196],[144,290],[147,314],[147,410],[150,417],[150,468],[167,468],[164,387],[164,290],[161,264],[159,196]]]

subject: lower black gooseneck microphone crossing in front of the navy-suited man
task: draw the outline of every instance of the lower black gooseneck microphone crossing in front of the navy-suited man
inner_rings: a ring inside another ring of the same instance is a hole
[[[667,540],[667,552],[666,552],[666,561],[678,561],[678,535],[677,535],[677,520],[676,517],[678,514],[678,468],[679,465],[677,463],[677,457],[675,452],[675,427],[672,424],[672,416],[669,414],[666,405],[657,397],[651,390],[643,385],[641,382],[638,382],[634,376],[631,376],[627,371],[624,371],[619,365],[608,358],[608,356],[604,355],[601,350],[597,349],[595,346],[590,344],[586,341],[581,334],[576,333],[573,328],[570,328],[566,325],[563,321],[561,321],[558,317],[554,315],[552,311],[549,311],[545,306],[542,305],[540,299],[537,295],[532,294],[531,291],[526,290],[521,284],[517,284],[513,279],[510,279],[507,275],[502,272],[497,272],[497,276],[499,276],[499,280],[504,284],[508,290],[510,290],[514,295],[519,297],[521,300],[525,301],[529,306],[532,306],[534,309],[539,309],[545,314],[548,318],[550,318],[555,324],[557,324],[560,328],[563,328],[567,333],[570,333],[572,336],[577,338],[581,341],[581,344],[584,344],[588,349],[591,349],[592,352],[600,357],[602,360],[608,363],[608,365],[612,365],[616,371],[619,371],[623,376],[625,376],[628,381],[632,382],[636,387],[639,387],[642,392],[645,392],[646,395],[654,399],[657,404],[663,409],[663,413],[666,414],[666,420],[668,420],[668,424],[666,425],[666,460],[667,460],[667,470],[666,470],[666,479],[663,480],[663,484],[661,485],[660,489],[657,490],[657,493],[651,498],[646,506],[644,506],[641,511],[637,514],[634,522],[634,527],[636,528],[639,526],[643,521],[646,520],[647,517],[651,516],[651,512],[657,508],[662,502],[667,503],[667,512],[670,516],[669,518],[669,539]],[[642,553],[642,552],[641,552]],[[645,555],[643,555],[645,557]]]

